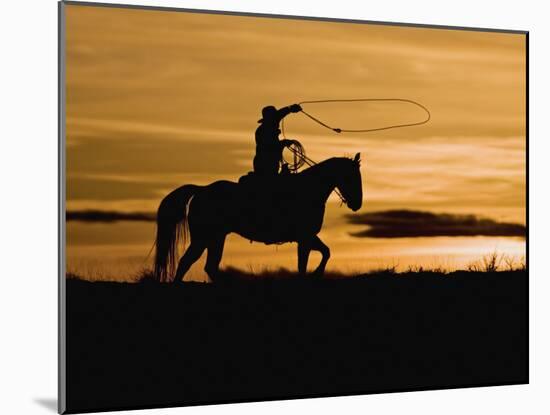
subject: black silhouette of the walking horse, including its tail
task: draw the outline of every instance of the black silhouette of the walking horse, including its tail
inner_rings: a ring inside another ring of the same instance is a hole
[[[297,242],[298,271],[305,274],[312,250],[322,255],[314,274],[323,275],[330,250],[317,236],[325,204],[336,188],[354,212],[363,201],[360,154],[334,157],[298,174],[249,179],[249,183],[217,181],[207,186],[184,185],[168,194],[157,212],[154,273],[157,280],[181,281],[204,250],[205,271],[216,276],[225,237],[235,232],[266,244]],[[179,241],[190,244],[179,260]],[[174,275],[175,271],[175,275]]]

